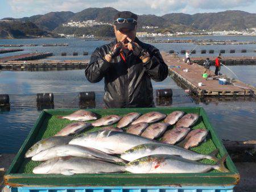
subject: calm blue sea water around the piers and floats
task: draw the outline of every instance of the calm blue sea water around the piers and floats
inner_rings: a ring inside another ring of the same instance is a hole
[[[169,38],[175,39],[175,37]],[[176,37],[176,39],[216,39],[255,41],[250,36],[195,36]],[[89,59],[90,53],[106,41],[84,41],[82,39],[0,39],[0,44],[43,44],[68,43],[68,47],[23,47],[23,52],[1,54],[0,57],[19,55],[33,51],[53,52],[54,56],[48,60]],[[193,49],[193,44],[154,44],[161,51],[174,49]],[[1,48],[1,47],[0,47]],[[196,49],[255,49],[255,45],[215,45],[198,46]],[[89,52],[89,56],[81,56],[82,52]],[[61,52],[68,56],[61,57]],[[80,56],[71,56],[79,52]],[[237,53],[241,55],[241,53]],[[243,55],[256,56],[255,53]],[[225,56],[225,55],[224,55]],[[228,54],[227,54],[228,56]],[[256,86],[256,66],[229,66],[241,81]],[[222,73],[232,77],[227,69]],[[207,101],[198,103],[189,97],[183,89],[167,77],[163,82],[152,81],[154,89],[171,88],[174,91],[172,101],[166,102],[168,106],[203,106],[207,111],[210,122],[216,128],[222,139],[248,140],[256,139],[256,104],[255,99],[231,99],[230,101]],[[0,70],[0,94],[9,94],[10,111],[0,111],[0,153],[15,153],[31,130],[40,114],[36,106],[36,93],[54,94],[54,108],[79,108],[78,94],[81,91],[96,91],[97,108],[104,107],[102,97],[104,94],[104,81],[90,84],[84,76],[84,70],[61,70],[47,72],[13,72]],[[155,102],[156,106],[159,103]]]

